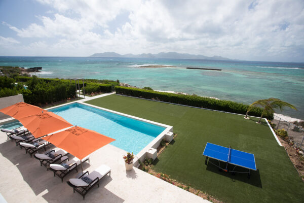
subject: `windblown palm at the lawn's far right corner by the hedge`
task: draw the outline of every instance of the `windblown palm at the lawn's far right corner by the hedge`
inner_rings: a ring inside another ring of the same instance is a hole
[[[275,113],[275,109],[278,109],[280,108],[280,110],[282,111],[283,107],[289,107],[291,109],[295,109],[297,110],[293,105],[285,102],[285,101],[282,101],[278,98],[268,98],[268,99],[260,99],[260,100],[257,100],[257,101],[254,101],[254,103],[252,103],[248,110],[247,110],[247,113],[246,113],[246,116],[245,118],[247,118],[247,114],[248,112],[252,109],[252,107],[262,107],[264,108],[263,111],[262,111],[262,114],[261,114],[261,117],[258,121],[258,123],[261,122],[261,119],[262,119],[262,116],[264,115],[264,113],[268,112],[268,113]]]

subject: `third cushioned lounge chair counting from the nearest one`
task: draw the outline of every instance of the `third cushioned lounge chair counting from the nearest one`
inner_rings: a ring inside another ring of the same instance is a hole
[[[52,155],[50,155],[50,154],[52,154]],[[46,166],[47,170],[48,170],[48,166],[51,163],[54,163],[54,162],[60,160],[63,156],[66,156],[66,155],[68,155],[68,152],[66,152],[60,148],[55,148],[44,154],[36,153],[36,154],[34,154],[34,158],[38,159],[40,161],[40,165]]]

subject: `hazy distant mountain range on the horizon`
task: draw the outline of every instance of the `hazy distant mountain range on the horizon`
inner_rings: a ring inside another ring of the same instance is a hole
[[[90,57],[121,57],[121,58],[183,58],[183,59],[209,59],[209,60],[232,60],[221,56],[204,56],[194,54],[181,54],[177,52],[160,52],[158,54],[118,54],[115,52],[96,53]]]

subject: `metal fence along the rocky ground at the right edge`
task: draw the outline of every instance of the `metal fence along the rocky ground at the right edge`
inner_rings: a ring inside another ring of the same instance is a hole
[[[280,117],[274,116],[271,121],[276,124],[275,130],[284,129],[288,133],[288,137],[292,138],[298,148],[304,149],[304,130],[293,123],[290,123]]]

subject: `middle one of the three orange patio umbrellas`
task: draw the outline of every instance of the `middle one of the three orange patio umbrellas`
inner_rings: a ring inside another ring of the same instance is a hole
[[[18,120],[33,134],[35,138],[72,126],[72,124],[53,112],[44,111],[39,114],[19,118]]]

